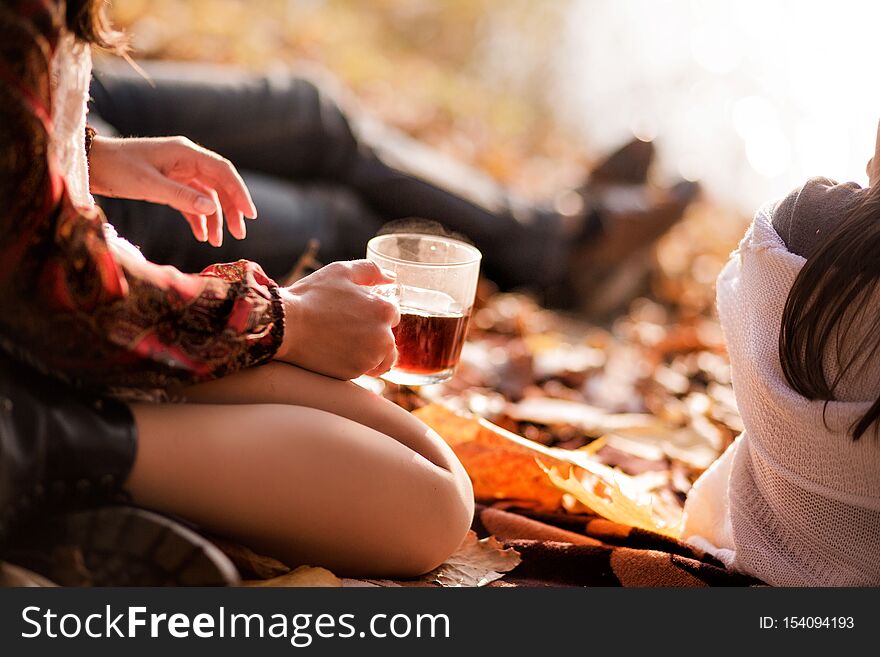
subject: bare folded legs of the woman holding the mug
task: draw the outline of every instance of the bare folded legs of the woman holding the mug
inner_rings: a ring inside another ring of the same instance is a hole
[[[146,506],[352,575],[430,570],[470,525],[470,482],[448,446],[354,384],[270,365],[189,396],[133,407],[128,488]],[[358,413],[363,423],[347,417]]]

